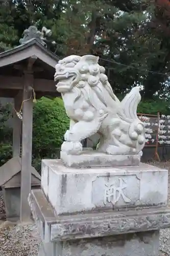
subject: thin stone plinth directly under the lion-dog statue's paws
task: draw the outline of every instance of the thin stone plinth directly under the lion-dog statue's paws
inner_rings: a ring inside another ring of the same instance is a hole
[[[83,151],[80,155],[60,152],[63,164],[68,167],[102,167],[139,165],[140,155],[107,155],[97,151]]]

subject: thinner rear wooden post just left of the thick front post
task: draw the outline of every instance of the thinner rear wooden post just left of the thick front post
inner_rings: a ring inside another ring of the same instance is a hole
[[[21,95],[19,95],[21,97]],[[21,100],[19,97],[14,98],[14,109],[20,110]],[[21,142],[21,119],[16,115],[13,110],[13,144],[12,144],[12,157],[20,157],[20,142]]]

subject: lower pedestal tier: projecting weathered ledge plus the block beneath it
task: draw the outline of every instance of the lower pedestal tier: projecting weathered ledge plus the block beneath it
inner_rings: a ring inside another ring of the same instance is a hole
[[[170,226],[167,207],[56,217],[40,189],[29,203],[42,239],[39,256],[158,256],[159,229]]]

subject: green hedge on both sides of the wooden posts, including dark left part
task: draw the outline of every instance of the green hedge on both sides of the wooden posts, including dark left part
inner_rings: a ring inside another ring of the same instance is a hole
[[[0,109],[2,109],[1,106]],[[12,129],[5,125],[6,119],[0,120],[0,165],[12,157]],[[32,146],[33,166],[37,170],[40,170],[42,158],[57,158],[59,156],[63,136],[68,127],[69,119],[65,113],[62,99],[42,97],[37,101],[33,109]],[[7,134],[8,136],[5,136]]]

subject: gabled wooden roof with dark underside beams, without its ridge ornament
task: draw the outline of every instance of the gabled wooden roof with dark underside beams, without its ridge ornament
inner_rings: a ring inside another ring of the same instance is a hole
[[[59,58],[33,38],[25,44],[0,53],[0,97],[15,97],[23,89],[23,69],[27,67],[28,59],[32,56],[37,57],[33,71],[34,90],[38,97],[58,96],[54,74]]]

